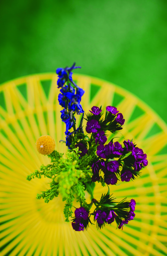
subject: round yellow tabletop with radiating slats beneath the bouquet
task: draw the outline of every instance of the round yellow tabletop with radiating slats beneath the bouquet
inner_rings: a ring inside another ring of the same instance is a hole
[[[26,177],[47,156],[36,150],[36,140],[50,135],[59,152],[66,152],[65,127],[60,119],[55,74],[19,78],[0,86],[0,255],[2,256],[162,256],[167,255],[167,126],[136,96],[106,81],[73,75],[85,90],[82,107],[115,105],[125,118],[119,141],[132,139],[147,154],[149,164],[135,181],[110,186],[118,198],[135,199],[136,216],[123,230],[116,223],[103,230],[96,225],[76,232],[64,222],[60,197],[48,204],[36,199],[49,188],[49,179]],[[117,138],[118,139],[118,138]],[[99,200],[107,188],[99,184]],[[88,197],[88,195],[87,195]],[[89,201],[89,197],[88,197]]]

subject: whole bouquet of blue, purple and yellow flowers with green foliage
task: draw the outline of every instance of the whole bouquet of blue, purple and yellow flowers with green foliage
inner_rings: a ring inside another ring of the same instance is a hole
[[[116,141],[116,137],[107,141],[109,133],[115,135],[122,129],[125,119],[114,106],[106,106],[105,115],[101,106],[92,106],[85,114],[81,106],[85,92],[72,80],[72,70],[76,68],[80,67],[75,67],[74,63],[70,68],[56,70],[60,88],[58,101],[63,108],[61,120],[66,124],[66,141],[61,140],[60,143],[66,143],[68,147],[66,156],[54,150],[53,138],[41,136],[36,142],[37,150],[48,155],[51,163],[41,165],[40,170],[27,176],[27,180],[41,178],[42,175],[51,179],[50,189],[37,194],[37,198],[42,197],[48,203],[60,194],[66,201],[65,221],[70,219],[74,230],[83,231],[94,223],[97,229],[101,229],[114,221],[121,229],[134,219],[136,202],[126,198],[117,202],[110,194],[109,185],[116,185],[118,181],[129,182],[140,176],[141,169],[148,164],[147,155],[129,139],[124,140],[124,145]],[[82,115],[79,127],[76,127],[77,115]],[[87,121],[86,128],[82,125],[83,119]],[[108,186],[108,192],[101,198],[94,198],[95,182]],[[91,197],[89,204],[85,191]],[[73,206],[75,198],[79,208]],[[94,211],[91,211],[92,205],[95,205]]]

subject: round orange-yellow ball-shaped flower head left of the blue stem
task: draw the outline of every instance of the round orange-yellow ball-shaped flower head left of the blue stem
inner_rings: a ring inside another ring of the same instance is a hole
[[[55,149],[55,140],[49,135],[42,135],[36,141],[36,148],[42,155],[49,155]]]

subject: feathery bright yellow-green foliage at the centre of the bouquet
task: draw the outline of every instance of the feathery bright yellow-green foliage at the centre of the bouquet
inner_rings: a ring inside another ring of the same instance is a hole
[[[92,161],[91,155],[80,157],[78,148],[68,150],[66,157],[63,154],[53,151],[49,155],[51,163],[41,165],[40,170],[36,170],[27,176],[27,180],[32,178],[48,177],[51,180],[50,189],[37,194],[37,199],[41,197],[45,203],[48,203],[60,193],[62,200],[66,201],[64,208],[65,221],[69,221],[72,216],[72,202],[76,197],[77,202],[85,208],[88,208],[85,198],[84,182],[91,182],[92,171],[89,162]]]

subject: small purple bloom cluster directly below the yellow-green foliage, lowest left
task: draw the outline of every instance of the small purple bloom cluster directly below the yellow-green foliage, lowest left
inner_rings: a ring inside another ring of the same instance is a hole
[[[83,231],[88,226],[89,220],[89,212],[86,211],[84,207],[77,208],[75,210],[75,218],[72,221],[72,228],[75,231]]]

